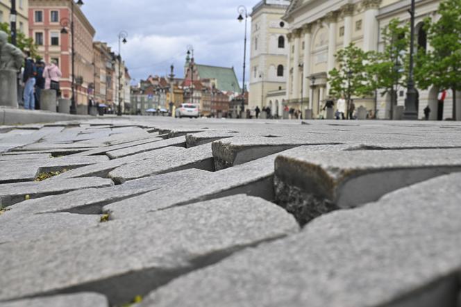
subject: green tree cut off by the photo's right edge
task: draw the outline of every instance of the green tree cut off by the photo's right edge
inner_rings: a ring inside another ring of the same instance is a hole
[[[453,92],[453,119],[456,120],[456,91],[461,90],[461,0],[444,0],[439,4],[440,18],[425,20],[428,51],[420,50],[414,69],[419,88],[435,85]]]

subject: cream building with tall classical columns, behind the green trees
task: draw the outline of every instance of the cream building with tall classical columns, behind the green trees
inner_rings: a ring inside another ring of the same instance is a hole
[[[423,24],[426,17],[437,18],[439,0],[417,0],[415,38],[418,47],[428,49]],[[336,67],[335,53],[353,42],[364,51],[383,50],[381,33],[397,18],[410,21],[410,0],[293,0],[283,19],[290,25],[288,36],[286,99],[289,106],[310,109],[313,116],[323,112],[329,97],[328,72]],[[451,118],[452,103],[437,102],[438,88],[419,91],[419,118],[430,106],[431,119]],[[450,94],[449,94],[450,95]],[[404,106],[405,88],[399,90],[399,106]],[[337,97],[334,97],[337,98]],[[301,101],[302,106],[301,106]],[[355,107],[364,106],[371,117],[389,118],[391,97],[354,97]],[[459,101],[458,101],[459,104]],[[460,108],[458,108],[459,110]],[[280,110],[281,112],[281,110]]]

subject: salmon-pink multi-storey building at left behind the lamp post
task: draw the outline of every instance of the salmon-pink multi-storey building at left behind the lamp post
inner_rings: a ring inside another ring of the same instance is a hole
[[[72,5],[74,5],[75,93],[76,104],[87,106],[94,83],[93,38],[95,30],[81,9],[68,0],[29,0],[28,34],[37,44],[45,63],[56,60],[62,72],[62,96],[72,97]],[[61,21],[67,20],[67,33],[61,33]]]

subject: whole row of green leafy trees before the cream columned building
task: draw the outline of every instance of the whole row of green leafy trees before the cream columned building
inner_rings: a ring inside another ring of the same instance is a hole
[[[456,91],[461,90],[461,1],[444,0],[440,18],[424,20],[430,47],[415,55],[414,78],[419,89],[435,86],[453,92],[453,119],[456,119]],[[330,93],[335,97],[370,97],[378,91],[390,94],[391,112],[397,92],[408,81],[410,26],[392,19],[383,29],[383,51],[365,52],[350,44],[337,52],[338,67],[328,72]]]

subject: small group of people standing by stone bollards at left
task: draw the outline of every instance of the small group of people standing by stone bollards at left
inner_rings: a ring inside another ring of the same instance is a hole
[[[56,90],[56,97],[60,97],[59,81],[62,73],[56,60],[45,64],[42,60],[33,60],[27,53],[24,67],[19,76],[19,86],[22,88],[24,108],[28,110],[40,109],[42,90]]]

